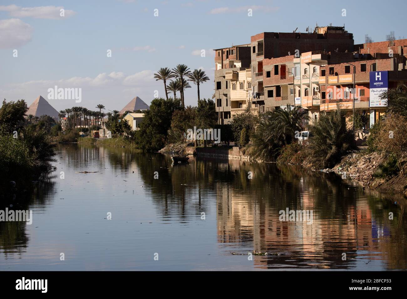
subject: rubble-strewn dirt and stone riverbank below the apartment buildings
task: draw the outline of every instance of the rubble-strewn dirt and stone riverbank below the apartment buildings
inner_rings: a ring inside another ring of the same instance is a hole
[[[214,157],[222,159],[239,159],[244,161],[252,161],[264,163],[260,159],[254,158],[251,153],[252,146],[249,144],[245,147],[234,146],[215,146],[215,147],[195,147],[193,144],[168,144],[162,148],[160,153],[180,153],[184,155],[197,155],[203,157]],[[386,156],[378,152],[368,153],[365,150],[355,151],[344,157],[333,168],[315,169],[312,165],[303,162],[302,167],[323,172],[335,172],[341,175],[344,179],[352,179],[362,186],[367,186],[381,192],[400,193],[407,196],[407,176],[401,173],[390,178],[376,177],[375,173],[379,170],[379,166],[386,161]],[[404,157],[407,162],[407,155]],[[296,163],[281,163],[281,164],[296,164]],[[298,164],[297,164],[298,165]],[[404,173],[407,172],[407,163],[404,164]]]

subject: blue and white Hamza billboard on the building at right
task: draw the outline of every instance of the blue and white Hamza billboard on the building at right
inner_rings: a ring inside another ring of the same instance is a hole
[[[369,107],[386,107],[387,99],[382,99],[383,92],[387,92],[389,82],[387,71],[370,72]]]

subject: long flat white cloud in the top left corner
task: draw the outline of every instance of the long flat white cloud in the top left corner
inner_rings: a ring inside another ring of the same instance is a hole
[[[11,17],[34,17],[37,19],[61,20],[66,17],[72,17],[76,12],[65,9],[64,16],[61,17],[63,6],[37,6],[37,7],[20,7],[17,5],[0,6],[0,11],[8,11]]]

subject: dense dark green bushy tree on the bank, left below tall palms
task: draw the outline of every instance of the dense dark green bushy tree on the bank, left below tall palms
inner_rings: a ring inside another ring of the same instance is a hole
[[[179,100],[153,99],[150,109],[144,112],[139,130],[135,133],[138,148],[144,151],[158,151],[163,148],[168,140],[173,113],[182,108]]]

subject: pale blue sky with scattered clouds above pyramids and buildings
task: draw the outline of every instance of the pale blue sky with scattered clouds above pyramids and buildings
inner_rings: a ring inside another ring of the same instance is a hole
[[[389,2],[390,3],[390,2]],[[63,8],[65,16],[60,17]],[[158,9],[158,16],[154,16]],[[253,10],[253,16],[247,15]],[[346,9],[346,17],[342,16]],[[264,31],[305,32],[315,23],[343,26],[363,43],[395,32],[407,37],[405,1],[7,1],[0,4],[0,97],[30,105],[48,88],[81,88],[82,101],[49,100],[57,110],[72,106],[122,109],[133,97],[147,104],[155,90],[164,97],[160,67],[184,63],[203,68],[210,81],[201,97],[211,98],[211,49],[250,42]],[[112,57],[107,57],[107,50]],[[201,50],[206,57],[201,57]],[[13,57],[17,50],[18,57]],[[186,105],[196,105],[196,86],[186,90]],[[96,109],[95,109],[96,110]]]

